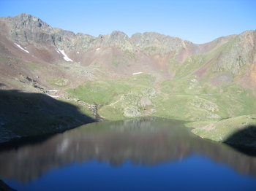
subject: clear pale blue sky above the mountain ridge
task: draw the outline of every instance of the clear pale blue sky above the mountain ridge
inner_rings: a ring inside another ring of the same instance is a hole
[[[154,31],[203,43],[256,29],[256,0],[0,0],[0,7],[0,17],[26,12],[93,36]]]

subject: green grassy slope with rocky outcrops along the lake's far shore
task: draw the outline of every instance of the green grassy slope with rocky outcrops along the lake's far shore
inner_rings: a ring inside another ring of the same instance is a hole
[[[256,111],[252,90],[236,83],[214,86],[195,76],[156,82],[149,74],[127,79],[86,82],[69,96],[102,105],[109,120],[158,116],[178,120],[221,120]]]

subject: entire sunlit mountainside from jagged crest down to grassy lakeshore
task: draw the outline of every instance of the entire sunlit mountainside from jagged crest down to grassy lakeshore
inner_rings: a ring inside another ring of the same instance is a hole
[[[256,31],[193,44],[157,33],[94,37],[27,14],[1,17],[1,89],[45,93],[98,119],[215,122],[256,113],[255,43]]]

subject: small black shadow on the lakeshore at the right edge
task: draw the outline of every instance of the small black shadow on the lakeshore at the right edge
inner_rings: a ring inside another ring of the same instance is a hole
[[[248,125],[238,130],[229,136],[224,143],[245,155],[256,156],[256,126]]]

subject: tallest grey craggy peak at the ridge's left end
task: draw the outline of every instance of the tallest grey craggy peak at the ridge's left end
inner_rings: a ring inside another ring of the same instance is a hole
[[[70,31],[53,28],[39,18],[25,13],[16,17],[2,17],[1,24],[5,26],[8,38],[23,46],[28,44],[37,47],[56,46],[62,41],[67,43],[68,37],[75,36]]]

